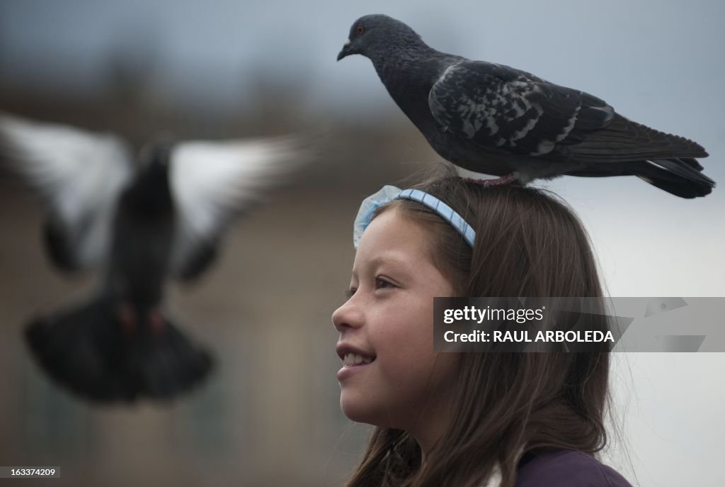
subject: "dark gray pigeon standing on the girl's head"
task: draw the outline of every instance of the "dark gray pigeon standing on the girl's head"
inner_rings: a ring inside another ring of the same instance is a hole
[[[444,159],[488,184],[570,176],[639,176],[673,195],[708,195],[715,181],[684,137],[618,115],[584,91],[525,71],[436,51],[399,20],[366,15],[337,56],[370,58],[390,96]]]

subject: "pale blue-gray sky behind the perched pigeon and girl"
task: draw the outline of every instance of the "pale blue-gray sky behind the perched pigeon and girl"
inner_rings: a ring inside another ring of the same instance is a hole
[[[705,173],[721,187],[698,200],[636,178],[546,186],[583,218],[610,295],[725,295],[722,1],[4,0],[0,83],[100,91],[115,58],[141,65],[154,97],[189,112],[244,106],[254,83],[277,77],[312,112],[407,123],[368,60],[335,62],[353,20],[373,12],[404,20],[436,49],[584,89],[703,144]],[[626,359],[616,358],[614,380],[639,482],[723,485],[723,354]],[[611,459],[634,479],[616,452]]]

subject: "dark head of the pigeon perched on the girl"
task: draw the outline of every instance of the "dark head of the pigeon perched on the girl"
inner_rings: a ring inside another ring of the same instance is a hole
[[[385,50],[386,46],[422,44],[421,36],[403,22],[387,15],[365,15],[352,23],[350,33],[337,60],[350,54],[372,57]]]

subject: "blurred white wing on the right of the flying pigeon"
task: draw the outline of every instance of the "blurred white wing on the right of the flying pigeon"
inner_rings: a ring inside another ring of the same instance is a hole
[[[170,168],[178,210],[173,276],[188,280],[201,274],[233,218],[288,181],[310,157],[309,140],[302,136],[178,144]]]

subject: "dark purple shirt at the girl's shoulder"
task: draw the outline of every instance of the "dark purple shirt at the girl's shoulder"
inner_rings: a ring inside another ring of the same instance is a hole
[[[632,487],[616,470],[575,450],[527,453],[518,463],[515,487]]]

